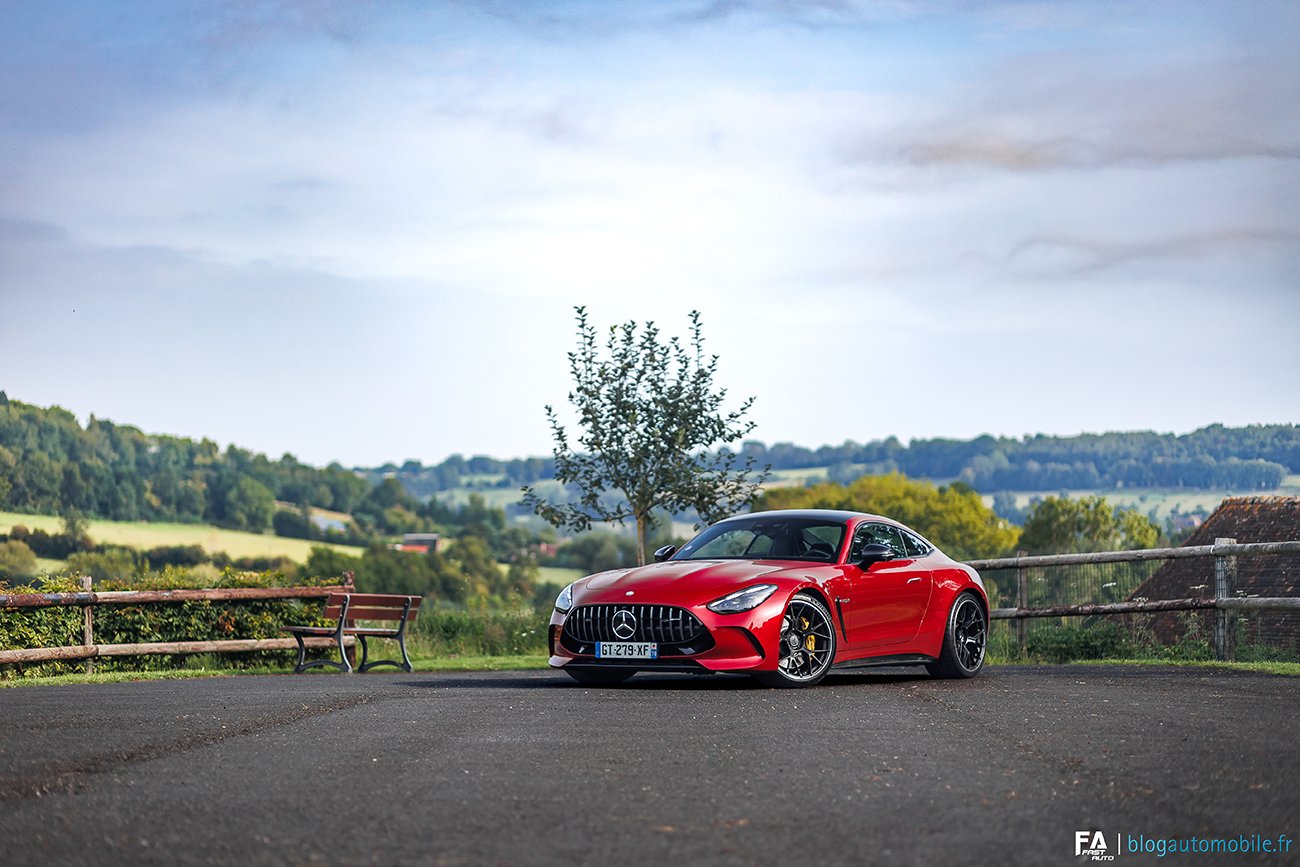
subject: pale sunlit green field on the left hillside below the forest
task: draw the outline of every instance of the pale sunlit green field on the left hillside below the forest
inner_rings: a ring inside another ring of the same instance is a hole
[[[62,519],[49,515],[18,515],[16,512],[0,512],[0,533],[8,533],[16,525],[47,533],[62,530]],[[281,536],[263,536],[259,533],[243,533],[240,530],[225,530],[209,524],[151,524],[147,521],[87,521],[86,532],[95,542],[108,542],[110,545],[130,545],[142,550],[160,547],[164,545],[200,545],[208,554],[225,551],[233,559],[240,558],[274,558],[287,556],[295,563],[304,563],[313,547],[324,546],[360,556],[364,549],[348,545],[328,545],[325,542],[309,542],[307,539],[290,539]],[[57,564],[57,560],[44,563]]]

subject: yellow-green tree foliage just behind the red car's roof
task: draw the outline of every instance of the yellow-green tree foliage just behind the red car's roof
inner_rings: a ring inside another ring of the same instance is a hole
[[[906,524],[957,559],[1013,552],[1019,537],[1014,526],[984,506],[966,485],[936,487],[900,473],[863,476],[852,485],[774,487],[754,503],[755,511],[774,508],[840,508],[883,515]]]

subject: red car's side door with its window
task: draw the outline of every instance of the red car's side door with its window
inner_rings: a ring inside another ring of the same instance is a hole
[[[879,543],[894,559],[858,567],[864,545]],[[849,647],[884,647],[911,641],[930,603],[931,573],[926,565],[928,546],[892,524],[861,524],[849,551]]]

